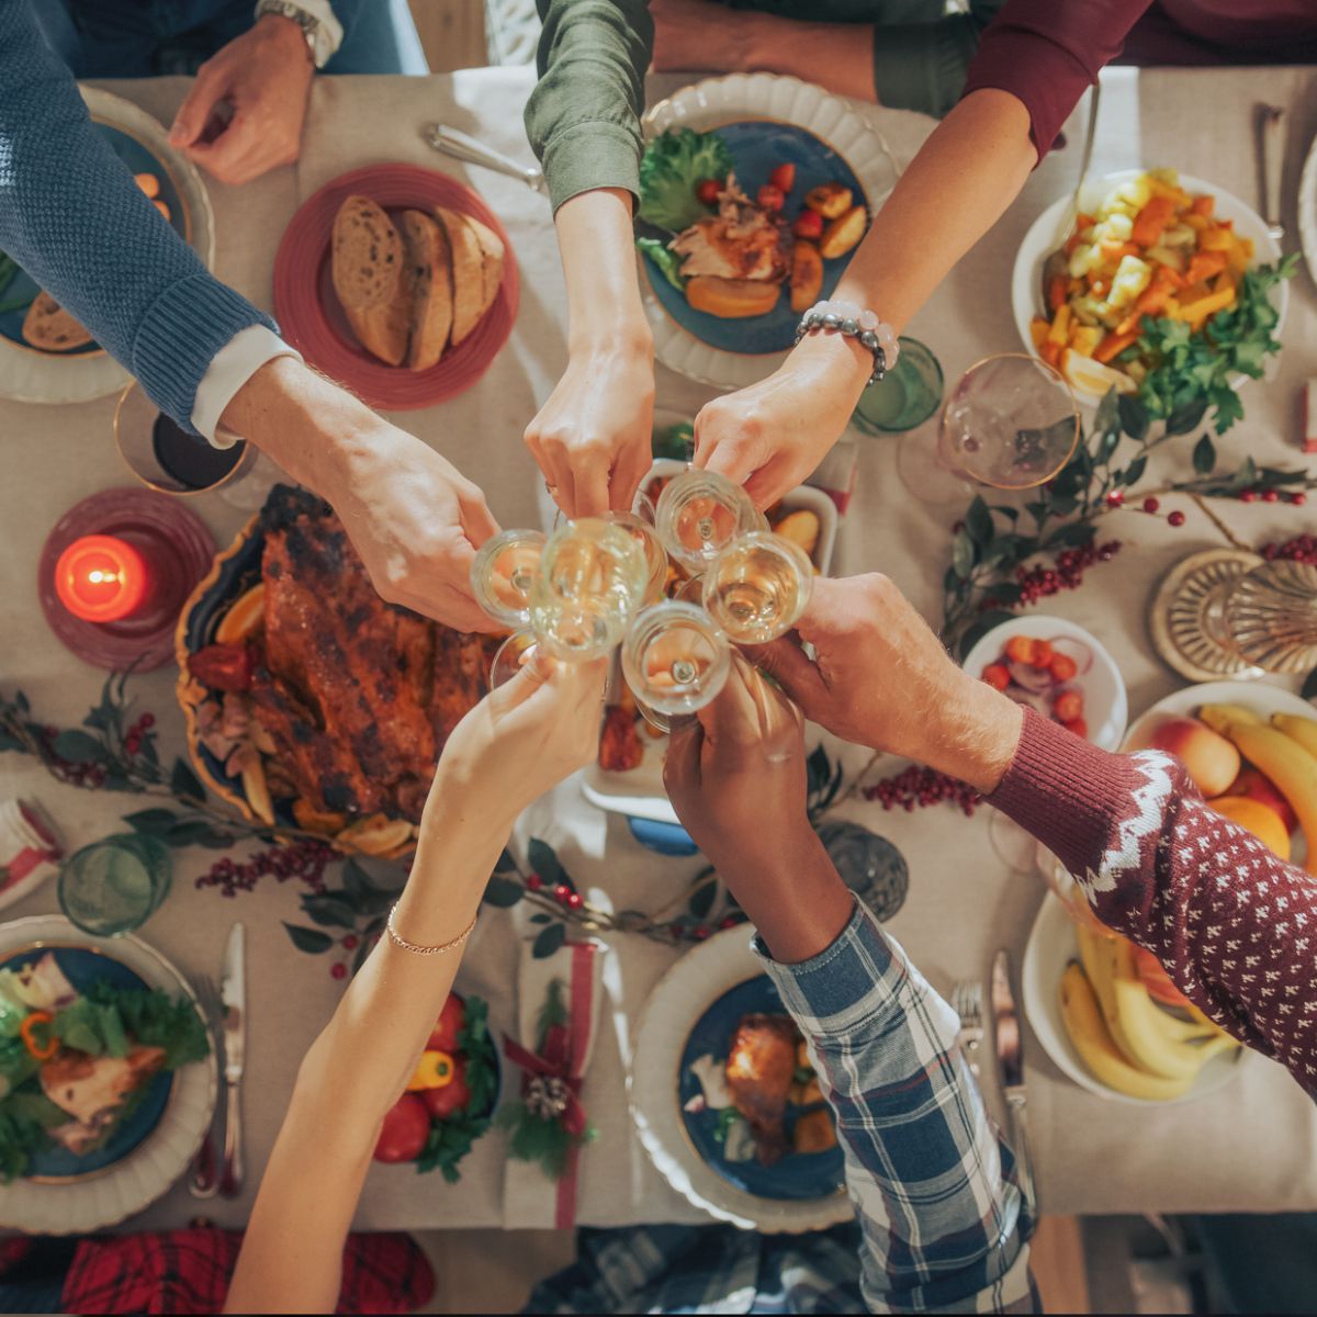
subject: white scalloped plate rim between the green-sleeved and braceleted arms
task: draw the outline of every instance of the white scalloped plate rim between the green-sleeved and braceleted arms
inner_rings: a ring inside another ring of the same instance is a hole
[[[874,115],[881,111],[874,109]],[[886,140],[868,117],[842,96],[777,74],[728,74],[682,87],[653,105],[641,120],[647,138],[669,128],[707,132],[745,120],[773,120],[811,133],[840,155],[864,188],[869,220],[892,194],[900,166]],[[644,262],[639,252],[636,259]],[[669,369],[715,389],[744,389],[770,375],[785,352],[741,354],[697,338],[664,309],[640,269],[640,291],[655,336],[655,356]]]

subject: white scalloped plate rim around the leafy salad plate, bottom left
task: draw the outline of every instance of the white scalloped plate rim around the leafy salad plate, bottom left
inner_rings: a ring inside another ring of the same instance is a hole
[[[137,938],[91,938],[62,915],[34,915],[0,925],[0,957],[41,943],[92,947],[128,965],[153,988],[183,993],[191,984]],[[200,1006],[196,1008],[200,1014]],[[204,1017],[203,1017],[204,1018]],[[121,1162],[70,1184],[14,1180],[0,1185],[0,1226],[25,1234],[90,1234],[149,1208],[183,1175],[215,1114],[219,1068],[215,1052],[174,1073],[159,1123]]]

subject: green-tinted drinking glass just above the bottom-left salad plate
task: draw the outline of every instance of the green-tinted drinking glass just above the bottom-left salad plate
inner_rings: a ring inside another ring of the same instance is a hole
[[[59,871],[59,909],[83,932],[133,932],[169,896],[169,848],[140,832],[107,836],[74,852]]]

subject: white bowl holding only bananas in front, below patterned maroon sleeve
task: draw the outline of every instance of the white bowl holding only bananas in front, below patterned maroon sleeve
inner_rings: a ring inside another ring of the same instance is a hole
[[[1021,997],[1025,1015],[1034,1030],[1034,1036],[1043,1044],[1043,1051],[1080,1088],[1115,1102],[1129,1102],[1131,1106],[1172,1106],[1176,1102],[1192,1102],[1206,1097],[1239,1073],[1239,1068],[1250,1055],[1247,1047],[1210,1058],[1198,1071],[1193,1087],[1180,1097],[1150,1101],[1108,1088],[1080,1059],[1062,1019],[1060,981],[1072,960],[1079,960],[1075,923],[1065,906],[1048,892],[1029,934],[1029,946],[1025,948],[1025,963],[1019,976]]]

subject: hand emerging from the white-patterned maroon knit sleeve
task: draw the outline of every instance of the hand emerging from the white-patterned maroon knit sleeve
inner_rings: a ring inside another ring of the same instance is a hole
[[[795,636],[755,657],[811,722],[981,792],[1010,766],[1019,706],[967,676],[888,577],[817,579]]]

